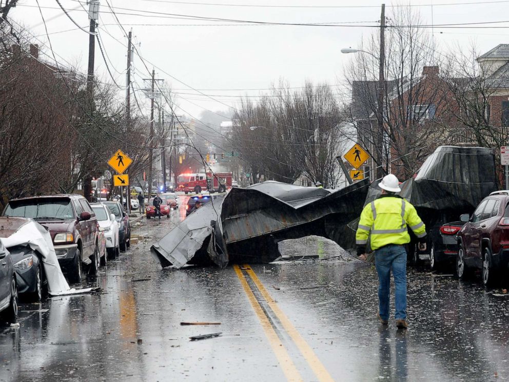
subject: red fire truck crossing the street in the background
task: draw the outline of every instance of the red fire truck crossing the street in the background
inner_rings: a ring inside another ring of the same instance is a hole
[[[180,174],[177,191],[200,194],[202,190],[224,193],[231,188],[231,173]]]

